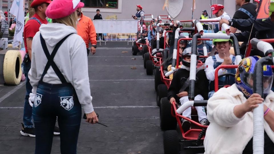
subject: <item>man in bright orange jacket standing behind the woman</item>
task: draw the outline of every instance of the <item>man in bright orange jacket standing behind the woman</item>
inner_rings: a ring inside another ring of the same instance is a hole
[[[96,31],[92,20],[89,17],[83,15],[81,8],[78,8],[76,11],[79,21],[79,23],[77,24],[77,33],[83,38],[86,43],[87,54],[89,54],[89,52],[91,52],[91,54],[95,54],[97,41]],[[90,50],[88,50],[89,42],[91,42],[92,45]]]

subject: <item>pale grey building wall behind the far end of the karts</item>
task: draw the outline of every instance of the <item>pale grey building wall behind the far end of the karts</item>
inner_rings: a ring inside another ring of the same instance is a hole
[[[118,19],[132,19],[131,15],[136,14],[136,5],[142,5],[143,11],[145,14],[153,14],[154,18],[157,15],[167,15],[166,9],[163,11],[162,7],[164,6],[165,0],[123,0],[122,1],[122,13],[104,13],[101,12],[103,19],[108,15],[117,15]],[[225,2],[225,11],[233,17],[235,13],[235,1],[234,0],[213,0],[213,3],[218,3],[224,5]],[[226,6],[227,5],[227,6]],[[183,9],[180,14],[175,18],[178,20],[190,20],[192,17],[192,0],[184,0]],[[202,11],[207,10],[207,13],[210,14],[210,5],[208,0],[196,0],[196,9],[194,10],[193,18],[200,19]],[[84,15],[93,19],[95,12],[83,12]],[[211,15],[210,15],[211,16]],[[213,15],[215,18],[215,15]]]

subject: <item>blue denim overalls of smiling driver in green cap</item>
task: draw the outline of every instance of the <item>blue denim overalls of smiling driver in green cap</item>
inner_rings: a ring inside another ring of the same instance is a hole
[[[220,66],[222,64],[222,62],[217,62],[217,59],[216,59],[216,56],[213,55],[212,56],[212,59],[214,61],[214,64],[213,64],[213,68],[216,69],[218,66]],[[235,56],[232,57],[232,64],[231,65],[235,65]],[[227,70],[227,73],[232,73],[232,74],[236,74],[236,70],[235,68],[230,68],[230,69],[226,69]],[[216,79],[215,79],[216,80]],[[219,85],[222,85],[224,84],[225,82],[225,76],[221,77],[218,79],[219,80]],[[235,83],[235,79],[230,79],[229,80],[229,84],[232,85]],[[208,99],[211,98],[211,96],[214,94],[214,81],[209,81],[209,93],[208,93]]]

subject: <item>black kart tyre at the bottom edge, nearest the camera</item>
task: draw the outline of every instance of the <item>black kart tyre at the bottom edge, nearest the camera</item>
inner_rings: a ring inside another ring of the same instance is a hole
[[[180,152],[179,141],[176,130],[164,131],[164,154],[178,154]]]

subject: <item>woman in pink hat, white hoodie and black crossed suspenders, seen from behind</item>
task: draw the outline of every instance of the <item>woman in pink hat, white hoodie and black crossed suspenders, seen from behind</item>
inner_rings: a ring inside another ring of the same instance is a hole
[[[42,24],[33,37],[29,79],[35,153],[51,153],[57,116],[61,153],[76,154],[81,107],[86,122],[98,122],[90,96],[86,45],[76,31],[76,9],[83,6],[80,0],[52,1],[45,13],[53,23]]]

